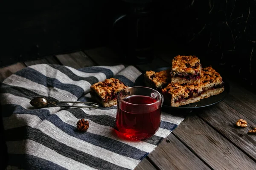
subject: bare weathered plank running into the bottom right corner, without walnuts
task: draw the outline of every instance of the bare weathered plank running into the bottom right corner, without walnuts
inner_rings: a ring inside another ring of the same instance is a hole
[[[256,169],[255,161],[198,116],[188,116],[172,133],[212,169]]]

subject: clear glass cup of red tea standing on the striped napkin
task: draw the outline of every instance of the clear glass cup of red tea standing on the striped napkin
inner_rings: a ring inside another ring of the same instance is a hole
[[[163,95],[147,87],[129,87],[117,97],[116,126],[124,139],[146,139],[160,127]]]

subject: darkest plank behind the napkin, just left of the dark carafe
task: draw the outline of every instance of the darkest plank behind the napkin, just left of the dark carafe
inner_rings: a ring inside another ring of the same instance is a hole
[[[99,47],[84,51],[87,56],[93,59],[98,65],[119,65],[123,64],[122,59],[110,48]]]

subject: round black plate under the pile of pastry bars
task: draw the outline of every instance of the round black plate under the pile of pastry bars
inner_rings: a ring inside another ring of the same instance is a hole
[[[154,71],[159,72],[159,71],[167,70],[168,68],[169,67],[157,68],[157,69],[154,69]],[[221,94],[211,96],[206,99],[202,99],[200,102],[191,103],[189,105],[183,105],[183,106],[179,106],[179,107],[163,105],[163,108],[166,108],[166,109],[195,109],[195,108],[204,108],[204,107],[207,107],[210,105],[214,105],[218,102],[221,102],[227,96],[227,94],[229,94],[229,91],[230,91],[230,85],[228,84],[228,82],[226,82],[225,79],[223,79],[223,82],[224,82],[224,91]],[[134,86],[146,86],[144,83],[144,73],[141,74],[135,80]]]

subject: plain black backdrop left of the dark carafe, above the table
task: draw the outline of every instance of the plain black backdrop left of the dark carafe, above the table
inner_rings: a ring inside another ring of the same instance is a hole
[[[105,45],[113,0],[0,2],[0,66]]]

